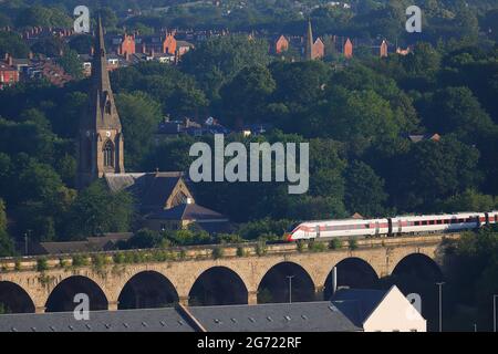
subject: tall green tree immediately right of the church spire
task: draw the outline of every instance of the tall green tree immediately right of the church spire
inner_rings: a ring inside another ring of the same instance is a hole
[[[126,138],[125,164],[131,169],[138,169],[162,119],[160,105],[143,92],[118,94],[116,105]]]

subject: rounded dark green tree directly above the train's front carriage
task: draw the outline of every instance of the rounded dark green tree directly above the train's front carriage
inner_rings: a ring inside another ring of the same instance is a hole
[[[354,160],[345,171],[345,206],[350,214],[377,217],[384,211],[387,199],[384,180],[366,164]]]

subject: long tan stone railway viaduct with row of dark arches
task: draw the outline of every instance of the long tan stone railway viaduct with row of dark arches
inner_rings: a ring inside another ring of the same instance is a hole
[[[344,240],[331,249],[295,243],[193,247],[154,260],[120,262],[117,253],[0,259],[0,303],[11,312],[70,311],[76,293],[91,310],[184,304],[235,304],[322,300],[330,294],[331,271],[339,285],[371,287],[380,278],[423,269],[442,277],[446,240],[458,235]],[[221,251],[220,251],[221,250]],[[168,251],[169,252],[169,251]],[[134,253],[134,254],[135,254]],[[125,256],[125,253],[121,253]],[[84,262],[81,261],[84,258]]]

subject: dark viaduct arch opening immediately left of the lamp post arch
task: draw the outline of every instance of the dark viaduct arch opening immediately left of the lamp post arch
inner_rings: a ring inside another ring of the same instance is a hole
[[[228,305],[248,303],[248,289],[242,278],[227,267],[205,270],[188,293],[189,305]]]

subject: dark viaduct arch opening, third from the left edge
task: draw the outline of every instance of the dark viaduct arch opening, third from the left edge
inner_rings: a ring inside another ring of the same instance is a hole
[[[153,270],[134,274],[123,287],[117,309],[156,309],[178,302],[178,293],[168,278]]]

